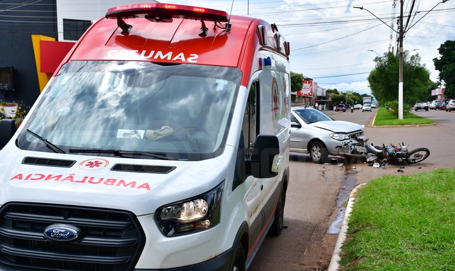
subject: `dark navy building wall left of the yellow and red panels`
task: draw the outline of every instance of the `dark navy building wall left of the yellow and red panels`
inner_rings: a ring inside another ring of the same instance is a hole
[[[14,66],[14,91],[0,92],[0,119],[11,118],[5,105],[17,104],[16,124],[40,94],[32,35],[58,38],[55,0],[0,2],[0,67]],[[10,112],[11,113],[11,112]]]

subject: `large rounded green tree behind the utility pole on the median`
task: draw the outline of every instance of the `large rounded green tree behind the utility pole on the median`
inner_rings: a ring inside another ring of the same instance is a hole
[[[373,96],[378,101],[398,100],[399,56],[391,52],[376,57],[376,67],[370,72],[368,82]],[[430,72],[421,64],[419,54],[403,53],[403,101],[413,104],[430,93]]]

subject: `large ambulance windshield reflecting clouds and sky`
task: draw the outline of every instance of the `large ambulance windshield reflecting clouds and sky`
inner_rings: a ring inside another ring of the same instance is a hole
[[[28,116],[18,145],[53,151],[29,130],[65,153],[212,158],[223,151],[241,77],[229,67],[72,61]]]

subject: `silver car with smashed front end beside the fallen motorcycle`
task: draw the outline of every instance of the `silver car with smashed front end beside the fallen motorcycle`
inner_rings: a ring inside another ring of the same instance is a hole
[[[329,155],[357,156],[365,153],[365,126],[334,120],[321,111],[293,107],[291,109],[290,151],[309,153],[313,163],[328,163]]]

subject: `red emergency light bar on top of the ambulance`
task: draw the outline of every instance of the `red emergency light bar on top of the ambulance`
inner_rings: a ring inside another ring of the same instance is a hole
[[[106,12],[107,19],[138,17],[158,18],[163,20],[181,18],[215,22],[229,21],[228,13],[224,11],[163,3],[124,5],[110,8]]]

